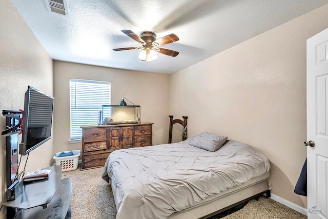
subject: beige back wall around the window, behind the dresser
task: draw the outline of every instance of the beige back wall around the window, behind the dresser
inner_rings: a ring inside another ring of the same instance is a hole
[[[167,142],[169,127],[169,75],[152,74],[99,66],[54,61],[54,145],[55,152],[80,150],[70,139],[70,78],[111,82],[111,104],[122,96],[140,105],[141,122],[152,122],[153,144]],[[128,105],[131,105],[126,101]]]

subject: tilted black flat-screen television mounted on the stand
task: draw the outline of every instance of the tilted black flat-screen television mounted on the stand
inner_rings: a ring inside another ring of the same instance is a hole
[[[51,138],[53,103],[52,96],[28,86],[25,92],[19,154],[26,155]]]

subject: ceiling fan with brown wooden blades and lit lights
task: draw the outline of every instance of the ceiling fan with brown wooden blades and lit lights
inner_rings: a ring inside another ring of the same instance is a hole
[[[123,33],[127,34],[131,38],[133,38],[136,42],[139,42],[142,46],[141,47],[126,47],[126,48],[117,48],[113,49],[114,51],[122,51],[122,50],[129,50],[129,49],[142,49],[142,51],[139,53],[139,58],[141,61],[151,62],[154,59],[157,58],[156,52],[170,55],[170,56],[177,56],[179,52],[170,50],[170,49],[164,49],[159,48],[157,46],[166,45],[169,43],[173,43],[179,40],[179,37],[175,35],[174,33],[171,33],[169,35],[163,36],[159,39],[156,39],[156,34],[152,31],[143,31],[140,33],[140,37],[132,32],[131,30],[121,30]],[[155,52],[156,51],[156,52]]]

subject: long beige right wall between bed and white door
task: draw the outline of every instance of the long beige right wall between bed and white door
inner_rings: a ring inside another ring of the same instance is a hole
[[[305,208],[293,191],[306,157],[306,39],[327,17],[328,5],[170,78],[170,113],[189,116],[189,136],[214,132],[258,148],[272,164],[272,193]]]

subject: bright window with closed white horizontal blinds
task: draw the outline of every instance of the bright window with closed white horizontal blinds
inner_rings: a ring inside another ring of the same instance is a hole
[[[70,79],[71,140],[81,138],[81,125],[99,123],[99,111],[110,105],[110,90],[110,82]]]

